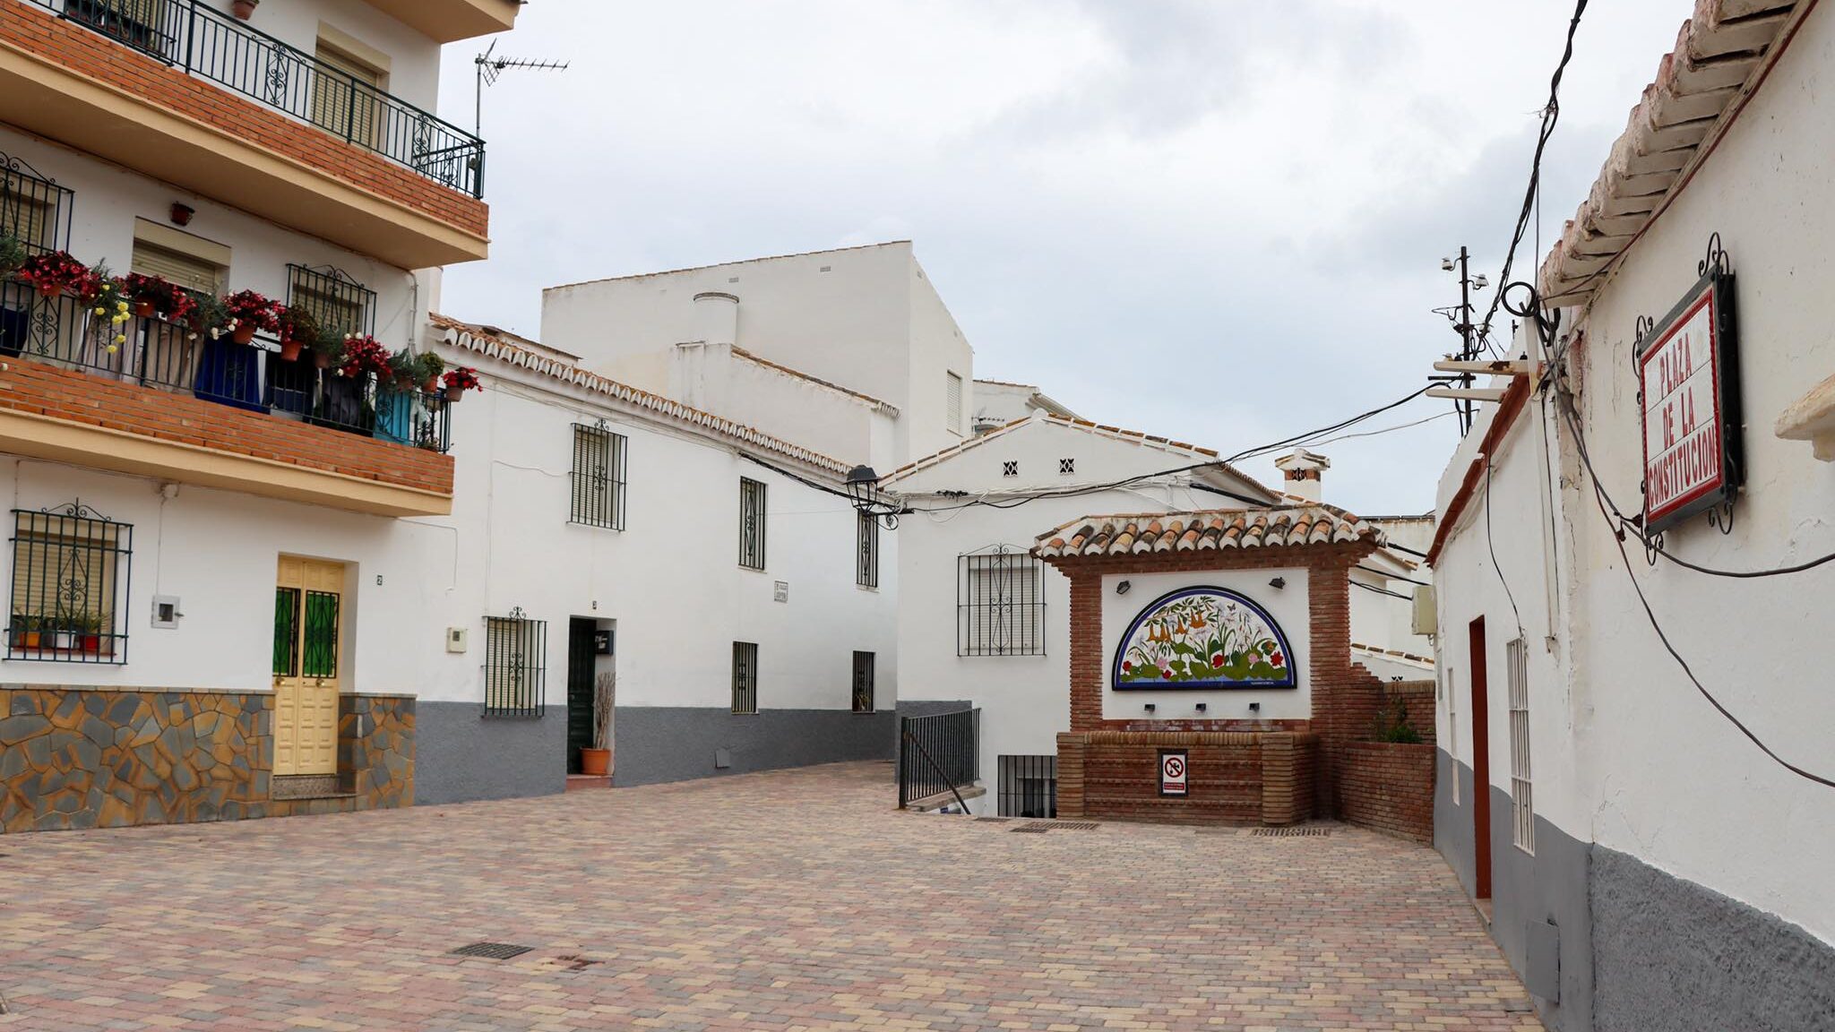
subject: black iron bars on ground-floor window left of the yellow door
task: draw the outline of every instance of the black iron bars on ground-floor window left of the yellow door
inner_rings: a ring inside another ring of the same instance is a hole
[[[127,663],[134,525],[83,501],[13,510],[7,659]]]

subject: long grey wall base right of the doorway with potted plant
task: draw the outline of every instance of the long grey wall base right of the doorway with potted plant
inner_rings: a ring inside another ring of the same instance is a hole
[[[728,773],[890,760],[897,733],[892,711],[725,709],[620,705],[613,722],[613,784],[657,784]],[[725,749],[732,766],[714,768]],[[558,755],[558,753],[556,753]]]

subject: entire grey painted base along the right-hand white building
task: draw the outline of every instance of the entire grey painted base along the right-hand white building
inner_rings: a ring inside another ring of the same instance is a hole
[[[1472,768],[1437,758],[1433,845],[1472,892]],[[1549,1028],[1835,1032],[1829,944],[1541,817],[1530,856],[1512,843],[1510,795],[1492,788],[1490,806],[1492,938],[1529,986],[1547,975],[1532,925],[1552,924],[1560,944],[1560,999],[1534,997]]]

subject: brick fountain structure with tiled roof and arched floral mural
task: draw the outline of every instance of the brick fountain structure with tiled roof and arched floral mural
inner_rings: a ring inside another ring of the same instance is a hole
[[[1382,683],[1351,661],[1351,567],[1382,531],[1329,505],[1088,516],[1033,555],[1070,578],[1059,815],[1340,815]],[[1165,782],[1178,757],[1184,784]]]

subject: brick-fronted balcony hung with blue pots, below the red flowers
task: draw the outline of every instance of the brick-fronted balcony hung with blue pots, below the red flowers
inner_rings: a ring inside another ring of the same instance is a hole
[[[451,406],[0,283],[0,452],[384,516],[451,512]]]

